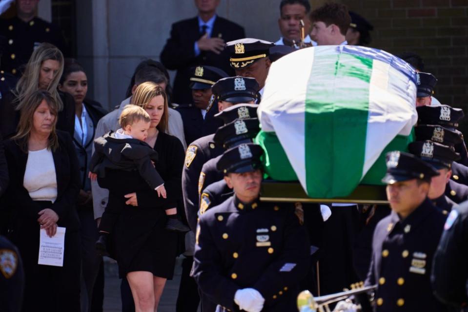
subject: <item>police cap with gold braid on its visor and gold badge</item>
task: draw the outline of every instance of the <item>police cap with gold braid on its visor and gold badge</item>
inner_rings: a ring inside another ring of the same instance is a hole
[[[250,66],[252,63],[266,58],[269,49],[274,46],[273,42],[268,42],[254,38],[244,38],[226,43],[230,53],[229,62],[234,69]]]

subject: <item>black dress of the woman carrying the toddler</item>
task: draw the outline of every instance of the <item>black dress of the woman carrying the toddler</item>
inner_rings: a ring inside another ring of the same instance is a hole
[[[159,157],[155,167],[164,180],[167,199],[158,197],[136,170],[107,170],[105,178],[99,179],[101,187],[109,188],[107,205],[119,205],[122,211],[112,232],[121,277],[132,271],[149,271],[172,279],[174,273],[177,234],[164,229],[164,210],[176,207],[182,197],[184,151],[178,138],[163,132],[154,149]],[[132,192],[137,193],[137,207],[125,204],[123,195]]]

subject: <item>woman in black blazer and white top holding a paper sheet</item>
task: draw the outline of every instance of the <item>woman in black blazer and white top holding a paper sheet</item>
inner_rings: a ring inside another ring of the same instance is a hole
[[[17,134],[5,142],[10,184],[4,194],[10,237],[25,272],[24,312],[80,311],[80,188],[75,147],[55,130],[57,103],[45,90],[32,92],[21,109]],[[63,267],[38,265],[40,229],[53,236],[66,228]]]

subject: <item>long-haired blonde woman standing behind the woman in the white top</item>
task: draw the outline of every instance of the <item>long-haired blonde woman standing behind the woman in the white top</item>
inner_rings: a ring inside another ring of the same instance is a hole
[[[4,139],[11,138],[20,121],[20,110],[27,105],[34,91],[47,90],[58,105],[57,129],[73,136],[75,131],[75,101],[73,97],[57,89],[63,72],[63,55],[50,43],[41,43],[31,55],[16,90],[2,94],[0,104],[0,132]]]

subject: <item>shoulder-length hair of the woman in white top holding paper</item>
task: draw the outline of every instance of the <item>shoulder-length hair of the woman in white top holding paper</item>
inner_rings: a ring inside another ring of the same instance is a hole
[[[24,101],[26,104],[23,105],[20,110],[20,122],[18,123],[16,135],[12,140],[20,146],[20,149],[23,152],[28,152],[28,140],[33,128],[34,113],[39,105],[41,105],[42,101],[45,101],[51,110],[51,114],[55,116],[52,124],[52,132],[48,138],[47,149],[55,151],[59,147],[59,139],[57,138],[57,132],[55,129],[55,126],[57,125],[58,112],[58,105],[55,98],[49,91],[36,90],[29,94]]]

